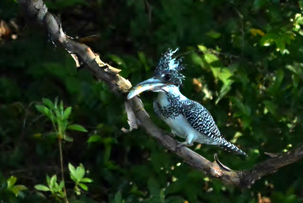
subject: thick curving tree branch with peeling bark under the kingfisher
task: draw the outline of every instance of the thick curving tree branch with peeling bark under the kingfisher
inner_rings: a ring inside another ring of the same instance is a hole
[[[85,68],[89,69],[98,79],[105,82],[114,93],[128,92],[131,88],[131,83],[118,74],[120,70],[102,62],[99,56],[92,52],[88,46],[66,36],[61,28],[61,23],[47,11],[47,7],[42,0],[18,0],[18,2],[22,4],[28,16],[36,17],[38,22],[47,29],[53,42],[65,48],[72,55],[77,66],[84,64]],[[177,154],[192,167],[203,171],[209,177],[218,178],[225,184],[247,187],[262,176],[274,173],[278,168],[303,158],[303,146],[301,146],[278,157],[263,161],[250,170],[233,171],[221,164],[216,156],[215,161],[211,162],[187,147],[176,148],[177,141],[165,134],[163,130],[152,122],[137,96],[126,101],[126,104],[131,105],[138,123],[148,134],[155,137],[162,145]]]

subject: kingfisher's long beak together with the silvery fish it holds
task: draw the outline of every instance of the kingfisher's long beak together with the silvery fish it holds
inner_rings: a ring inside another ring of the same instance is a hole
[[[150,78],[148,80],[143,81],[142,83],[139,83],[135,87],[132,88],[132,90],[128,93],[127,99],[131,99],[134,96],[144,92],[144,91],[157,91],[161,90],[161,87],[166,86],[167,84],[163,81],[156,79],[156,78]]]

